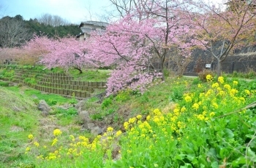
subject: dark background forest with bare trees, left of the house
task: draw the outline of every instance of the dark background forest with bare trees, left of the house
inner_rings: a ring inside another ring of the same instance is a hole
[[[67,23],[63,18],[44,14],[38,18],[24,20],[23,16],[5,16],[0,19],[0,47],[20,47],[34,34],[54,36],[76,36],[80,33],[78,25]]]

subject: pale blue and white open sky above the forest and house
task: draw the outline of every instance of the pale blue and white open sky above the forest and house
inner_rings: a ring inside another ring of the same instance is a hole
[[[0,5],[1,16],[21,15],[29,20],[48,13],[76,24],[91,19],[99,20],[99,15],[104,15],[105,9],[110,9],[109,0],[0,0]]]

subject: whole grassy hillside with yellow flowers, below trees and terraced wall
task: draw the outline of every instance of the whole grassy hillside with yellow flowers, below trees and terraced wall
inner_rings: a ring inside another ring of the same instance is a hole
[[[1,88],[1,160],[9,161],[3,167],[255,167],[256,81],[207,79],[170,78],[143,95],[127,90],[79,102]],[[35,109],[39,99],[53,109],[46,117]],[[78,104],[80,110],[72,108]],[[81,120],[81,111],[92,122]],[[15,115],[9,124],[7,116]],[[91,135],[89,124],[103,132]]]

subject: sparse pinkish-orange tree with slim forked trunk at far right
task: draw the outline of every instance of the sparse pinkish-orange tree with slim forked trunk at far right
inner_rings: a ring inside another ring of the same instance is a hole
[[[223,5],[227,5],[226,9]],[[198,27],[197,39],[217,60],[217,75],[222,62],[234,49],[255,44],[256,1],[194,1],[187,9],[191,25]],[[224,10],[225,9],[225,10]]]

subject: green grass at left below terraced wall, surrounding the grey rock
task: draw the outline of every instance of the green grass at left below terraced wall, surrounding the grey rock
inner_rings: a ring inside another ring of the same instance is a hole
[[[25,155],[31,145],[28,135],[39,137],[40,143],[48,143],[54,128],[68,127],[67,132],[80,133],[80,119],[75,108],[58,108],[53,105],[69,104],[77,100],[60,95],[47,94],[29,87],[0,87],[0,167],[30,167],[33,159]],[[52,111],[47,118],[37,110],[39,100],[46,100]],[[70,133],[71,134],[71,133]]]

